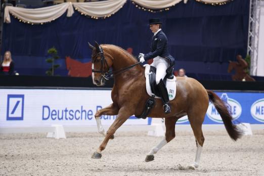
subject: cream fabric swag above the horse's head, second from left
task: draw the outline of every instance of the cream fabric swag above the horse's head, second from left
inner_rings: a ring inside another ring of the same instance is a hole
[[[92,17],[105,17],[116,13],[123,7],[126,0],[108,0],[89,3],[72,3],[81,13]]]

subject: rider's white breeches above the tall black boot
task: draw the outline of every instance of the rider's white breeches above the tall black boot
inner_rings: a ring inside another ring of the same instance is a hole
[[[160,79],[163,79],[166,76],[166,70],[169,67],[167,59],[162,57],[155,57],[151,66],[156,67],[156,84],[159,83]]]

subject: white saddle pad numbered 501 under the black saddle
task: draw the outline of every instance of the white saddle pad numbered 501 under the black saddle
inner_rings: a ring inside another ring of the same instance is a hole
[[[151,91],[151,87],[150,87],[150,83],[149,83],[149,70],[150,70],[150,65],[149,64],[145,64],[145,77],[146,77],[146,90],[149,96],[153,96],[154,94]],[[168,96],[169,96],[169,100],[173,100],[176,97],[176,77],[173,75],[173,79],[167,79],[166,82],[166,87],[167,87],[167,91],[168,91]],[[159,98],[155,96],[155,98]]]

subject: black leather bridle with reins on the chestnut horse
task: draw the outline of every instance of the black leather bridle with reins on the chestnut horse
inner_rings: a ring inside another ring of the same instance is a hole
[[[138,62],[138,63],[133,64],[133,65],[130,65],[130,66],[128,66],[128,67],[122,68],[122,69],[120,69],[120,70],[116,70],[116,71],[109,70],[110,68],[109,68],[109,65],[107,64],[107,61],[105,60],[104,51],[103,51],[103,49],[102,49],[100,46],[99,46],[99,50],[100,50],[100,52],[97,53],[95,56],[92,56],[92,58],[94,58],[94,57],[97,58],[98,56],[101,56],[101,59],[100,59],[100,61],[101,61],[101,69],[100,69],[100,70],[92,69],[92,72],[94,72],[94,73],[101,73],[101,76],[102,76],[105,80],[109,80],[109,78],[110,78],[113,74],[115,74],[115,75],[120,74],[120,73],[125,72],[125,71],[127,71],[127,70],[129,70],[129,69],[135,67],[136,65],[139,65],[139,64],[140,64],[140,62]],[[93,64],[94,64],[94,62],[95,62],[96,60],[97,60],[97,59],[95,59],[95,60],[93,61]],[[108,71],[108,70],[109,70],[109,71]]]

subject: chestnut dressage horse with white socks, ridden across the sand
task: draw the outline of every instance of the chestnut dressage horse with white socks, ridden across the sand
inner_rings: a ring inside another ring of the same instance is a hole
[[[101,152],[106,148],[109,139],[114,138],[115,131],[132,115],[139,116],[143,112],[145,103],[150,97],[146,91],[145,69],[138,61],[125,50],[114,45],[92,46],[92,77],[94,84],[104,85],[107,76],[105,73],[113,73],[114,86],[111,97],[113,103],[95,114],[99,133],[105,136],[104,141],[92,155],[92,158],[101,158]],[[109,71],[112,68],[112,71]],[[129,68],[128,70],[124,68]],[[181,117],[188,115],[193,133],[196,139],[195,161],[189,165],[190,169],[199,166],[200,155],[204,143],[202,123],[208,108],[209,100],[221,115],[229,136],[233,140],[241,137],[239,128],[232,123],[224,102],[213,92],[204,89],[203,85],[193,78],[177,78],[176,98],[170,101],[171,112],[164,114],[162,102],[156,99],[156,103],[148,117],[165,118],[165,138],[148,153],[145,161],[154,160],[154,154],[175,137],[175,123]],[[117,115],[113,124],[105,133],[101,124],[101,115]]]

